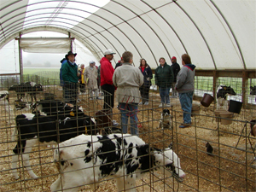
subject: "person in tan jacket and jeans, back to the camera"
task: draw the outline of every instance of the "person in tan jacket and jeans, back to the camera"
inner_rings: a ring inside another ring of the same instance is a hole
[[[139,88],[144,83],[144,77],[137,67],[131,65],[133,55],[130,51],[125,51],[122,57],[123,65],[116,68],[113,73],[113,85],[117,87],[116,98],[121,112],[122,132],[127,133],[127,124],[130,117],[131,135],[138,135],[137,105],[140,102]]]

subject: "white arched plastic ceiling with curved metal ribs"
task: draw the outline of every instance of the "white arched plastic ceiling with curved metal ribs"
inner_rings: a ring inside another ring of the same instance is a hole
[[[255,69],[255,0],[1,0],[0,48],[20,34],[61,32],[100,59],[106,49],[150,67],[187,53],[199,69]],[[22,36],[21,36],[22,37]],[[78,53],[79,54],[79,53]],[[113,62],[114,62],[113,61]]]

